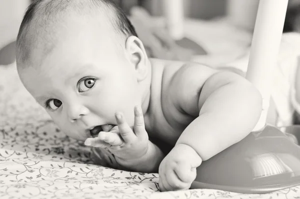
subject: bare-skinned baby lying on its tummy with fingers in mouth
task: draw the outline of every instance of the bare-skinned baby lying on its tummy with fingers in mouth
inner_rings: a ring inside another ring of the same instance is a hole
[[[256,125],[261,95],[206,65],[149,59],[110,0],[35,0],[17,36],[26,89],[68,136],[107,148],[123,169],[190,187],[196,167]],[[171,146],[165,153],[153,140]]]

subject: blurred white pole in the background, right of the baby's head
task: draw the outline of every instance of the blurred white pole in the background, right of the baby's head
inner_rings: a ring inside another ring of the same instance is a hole
[[[184,36],[184,2],[183,0],[163,0],[163,14],[165,17],[166,28],[175,40]]]

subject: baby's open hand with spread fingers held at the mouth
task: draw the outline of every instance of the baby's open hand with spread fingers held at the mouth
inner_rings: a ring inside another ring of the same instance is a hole
[[[133,130],[122,113],[115,114],[117,127],[109,132],[100,131],[97,137],[87,138],[85,145],[107,148],[119,164],[138,160],[148,149],[148,134],[145,130],[141,108],[134,107]]]

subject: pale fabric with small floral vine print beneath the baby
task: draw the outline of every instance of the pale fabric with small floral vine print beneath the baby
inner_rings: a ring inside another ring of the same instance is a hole
[[[57,128],[11,64],[0,66],[0,198],[300,198],[300,186],[261,195],[159,192],[157,173],[95,165],[90,148]]]

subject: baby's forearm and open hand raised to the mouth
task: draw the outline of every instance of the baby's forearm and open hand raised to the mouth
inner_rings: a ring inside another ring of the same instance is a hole
[[[107,148],[114,154],[114,156],[110,155],[110,158],[114,158],[118,169],[157,172],[164,154],[149,141],[141,109],[134,108],[134,131],[129,127],[122,113],[116,114],[116,122],[117,130],[101,131],[97,137],[87,138],[85,144]]]

